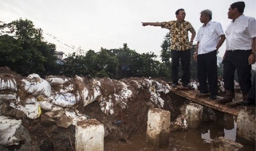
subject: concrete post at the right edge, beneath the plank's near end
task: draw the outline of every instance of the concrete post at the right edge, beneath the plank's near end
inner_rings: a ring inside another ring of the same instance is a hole
[[[237,115],[237,136],[255,142],[255,110],[242,109]]]

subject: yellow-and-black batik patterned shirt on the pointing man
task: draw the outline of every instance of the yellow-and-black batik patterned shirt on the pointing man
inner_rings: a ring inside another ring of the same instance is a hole
[[[179,22],[177,20],[161,22],[162,28],[170,30],[171,50],[188,50],[191,48],[188,38],[188,31],[194,33],[193,26],[188,21]]]

